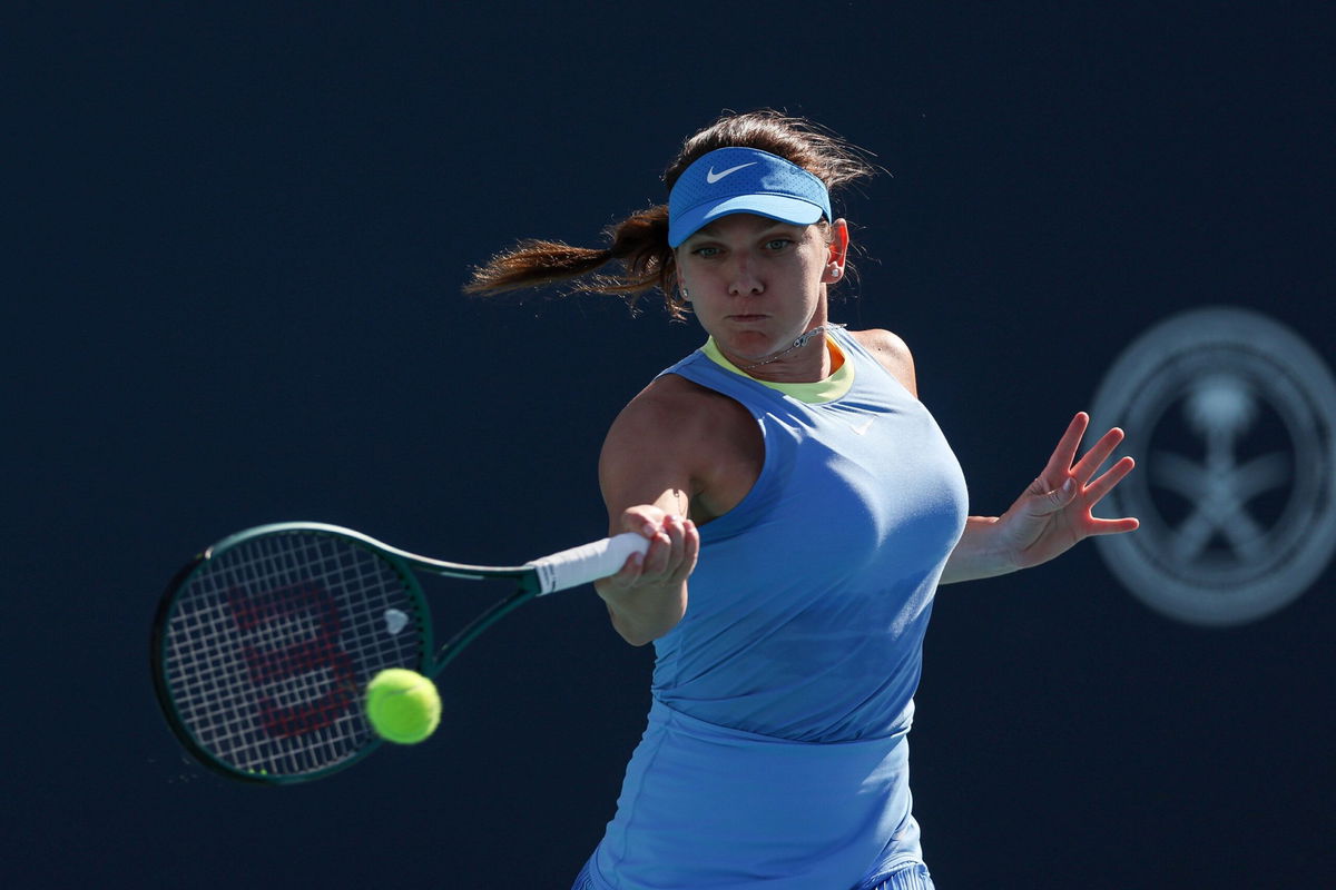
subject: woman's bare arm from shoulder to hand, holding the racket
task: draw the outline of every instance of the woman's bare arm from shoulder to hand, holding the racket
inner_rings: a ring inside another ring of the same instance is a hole
[[[609,532],[644,535],[649,550],[616,575],[595,582],[612,626],[632,646],[671,631],[687,612],[687,579],[700,534],[689,519],[699,494],[701,412],[680,379],[665,376],[613,422],[599,458]]]

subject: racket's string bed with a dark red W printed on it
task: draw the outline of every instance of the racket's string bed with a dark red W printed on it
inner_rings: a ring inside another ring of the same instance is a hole
[[[285,532],[206,560],[178,592],[164,675],[178,717],[242,773],[309,775],[374,737],[367,681],[421,660],[411,582],[343,538]]]

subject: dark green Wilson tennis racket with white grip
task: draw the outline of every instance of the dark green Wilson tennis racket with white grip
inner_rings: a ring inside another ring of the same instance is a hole
[[[524,603],[616,574],[647,546],[621,534],[505,568],[429,559],[322,523],[247,528],[191,559],[163,594],[151,648],[158,701],[182,745],[224,775],[318,779],[379,745],[363,693],[381,670],[434,677]],[[434,650],[414,571],[517,588]]]

